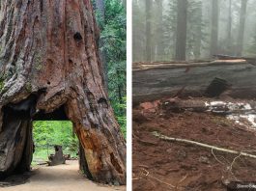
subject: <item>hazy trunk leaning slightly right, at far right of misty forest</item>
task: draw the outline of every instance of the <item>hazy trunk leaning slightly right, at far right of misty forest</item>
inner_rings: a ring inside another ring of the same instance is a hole
[[[237,56],[242,55],[246,7],[247,7],[247,0],[242,0],[241,1],[241,12],[240,12],[240,27],[239,27],[239,36],[238,36],[238,45],[237,45]]]

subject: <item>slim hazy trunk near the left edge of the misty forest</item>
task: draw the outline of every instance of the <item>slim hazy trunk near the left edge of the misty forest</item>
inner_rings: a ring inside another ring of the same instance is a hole
[[[146,60],[152,61],[152,0],[146,0]]]

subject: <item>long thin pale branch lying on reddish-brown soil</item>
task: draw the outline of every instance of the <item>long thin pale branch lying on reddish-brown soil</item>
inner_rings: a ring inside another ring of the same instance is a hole
[[[256,158],[256,155],[245,153],[245,152],[242,152],[242,151],[218,148],[218,147],[215,147],[215,146],[199,143],[199,142],[196,142],[196,141],[190,141],[190,140],[187,140],[187,139],[167,137],[167,136],[162,135],[162,134],[160,134],[156,131],[153,132],[153,135],[156,136],[159,139],[166,140],[166,141],[176,141],[176,142],[186,143],[186,144],[190,144],[190,145],[200,146],[200,147],[203,147],[203,148],[208,148],[208,149],[211,149],[211,150],[218,150],[218,151],[223,151],[223,152],[227,152],[227,153],[239,154],[241,156],[246,156],[246,157],[250,157],[250,158]]]

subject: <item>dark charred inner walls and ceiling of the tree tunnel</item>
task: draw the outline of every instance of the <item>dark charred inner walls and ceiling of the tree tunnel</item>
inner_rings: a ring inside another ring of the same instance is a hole
[[[6,142],[1,147],[5,146],[6,151],[0,152],[1,154],[7,154],[6,159],[10,160],[5,162],[6,169],[1,169],[0,178],[9,177],[10,175],[23,173],[31,170],[31,163],[33,158],[33,125],[34,121],[70,121],[68,118],[65,108],[65,104],[58,107],[52,112],[45,112],[43,110],[37,109],[39,95],[32,94],[26,99],[19,101],[18,103],[8,104],[3,108],[4,119],[3,128],[0,134],[1,143]],[[75,129],[75,124],[73,123],[74,132],[77,134],[77,129]],[[11,136],[12,135],[12,136]],[[7,137],[8,139],[2,139]],[[86,177],[91,180],[96,180],[90,172],[89,165],[86,159],[86,153],[83,148],[83,143],[81,137],[79,141],[79,168],[84,172]],[[9,149],[7,149],[9,147]],[[3,148],[1,148],[3,150]],[[110,157],[113,157],[111,154]],[[3,162],[3,161],[1,161]],[[111,158],[111,162],[113,158]],[[122,172],[120,166],[118,170]],[[107,173],[107,172],[106,172]],[[107,175],[107,174],[106,174]],[[114,182],[114,181],[113,181]],[[108,183],[105,181],[104,183]]]

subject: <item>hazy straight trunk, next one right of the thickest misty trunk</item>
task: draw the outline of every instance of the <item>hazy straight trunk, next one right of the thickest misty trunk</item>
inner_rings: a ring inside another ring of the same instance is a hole
[[[212,0],[212,33],[210,56],[217,54],[218,45],[218,0]]]

